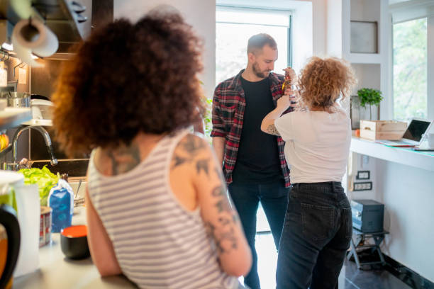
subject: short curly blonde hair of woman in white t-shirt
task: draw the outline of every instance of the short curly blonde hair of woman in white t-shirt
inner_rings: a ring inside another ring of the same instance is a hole
[[[305,108],[333,107],[340,98],[345,99],[356,83],[350,64],[336,57],[311,57],[297,83],[299,103]]]

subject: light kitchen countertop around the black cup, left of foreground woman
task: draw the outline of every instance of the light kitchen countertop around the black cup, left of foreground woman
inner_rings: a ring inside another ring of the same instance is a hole
[[[77,212],[77,213],[76,213]],[[75,208],[72,225],[86,223],[84,208]],[[13,279],[16,288],[137,288],[124,276],[101,278],[91,258],[70,260],[60,249],[60,234],[52,234],[52,243],[39,249],[39,269]]]

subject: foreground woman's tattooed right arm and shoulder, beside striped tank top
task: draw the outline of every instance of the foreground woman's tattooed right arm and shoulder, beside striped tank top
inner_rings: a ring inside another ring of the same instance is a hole
[[[199,206],[223,271],[232,276],[247,274],[252,263],[250,248],[238,213],[230,203],[221,165],[204,139],[187,135],[179,142],[172,157],[170,183],[175,196],[187,209]]]

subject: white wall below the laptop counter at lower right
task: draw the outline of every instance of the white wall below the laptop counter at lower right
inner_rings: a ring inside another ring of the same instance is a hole
[[[383,251],[434,282],[434,171],[377,159],[375,199],[390,232]]]

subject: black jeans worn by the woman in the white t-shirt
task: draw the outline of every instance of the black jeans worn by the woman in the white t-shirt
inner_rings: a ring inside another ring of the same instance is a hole
[[[338,288],[351,235],[351,207],[340,182],[293,184],[280,239],[277,288]]]

